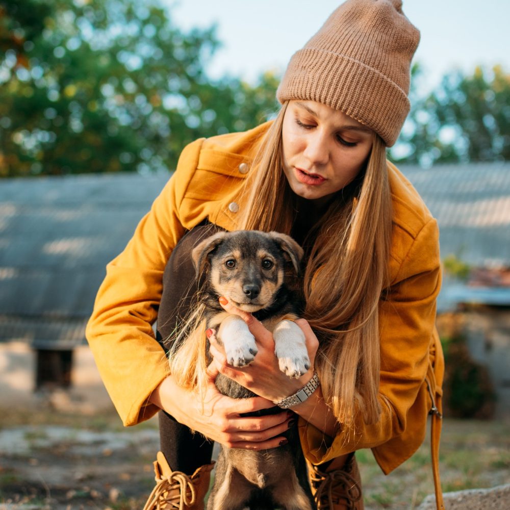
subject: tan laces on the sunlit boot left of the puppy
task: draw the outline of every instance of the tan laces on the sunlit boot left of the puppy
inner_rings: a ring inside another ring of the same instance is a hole
[[[189,497],[188,497],[189,496]],[[162,477],[152,489],[143,510],[163,510],[176,508],[186,510],[195,502],[195,488],[190,477],[181,471]]]

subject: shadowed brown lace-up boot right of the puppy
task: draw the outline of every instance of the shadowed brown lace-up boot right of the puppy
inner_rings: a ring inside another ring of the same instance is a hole
[[[356,458],[354,453],[347,461],[344,458],[334,459],[324,470],[308,463],[308,477],[318,510],[364,510]]]

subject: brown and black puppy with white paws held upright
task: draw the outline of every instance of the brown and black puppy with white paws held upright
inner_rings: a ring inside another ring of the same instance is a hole
[[[220,307],[219,296],[252,313],[272,331],[279,367],[289,377],[299,377],[310,368],[304,335],[293,321],[298,312],[293,286],[302,255],[289,236],[259,231],[220,232],[193,250],[197,275],[205,275],[201,292],[207,327],[216,330],[229,364],[248,365],[257,354],[257,344],[246,323]],[[221,374],[216,387],[233,398],[254,396]],[[265,414],[280,411],[275,407]],[[207,509],[315,508],[296,427],[289,430],[288,439],[287,445],[263,451],[222,447]]]

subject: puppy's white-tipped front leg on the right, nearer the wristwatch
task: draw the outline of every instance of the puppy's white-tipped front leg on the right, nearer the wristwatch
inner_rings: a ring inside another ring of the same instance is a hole
[[[285,319],[273,329],[274,352],[280,370],[289,377],[300,377],[310,368],[304,333],[294,322]]]

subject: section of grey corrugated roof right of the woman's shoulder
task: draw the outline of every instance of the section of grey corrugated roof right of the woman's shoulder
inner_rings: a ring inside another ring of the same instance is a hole
[[[510,163],[403,166],[440,227],[441,256],[510,265]]]

